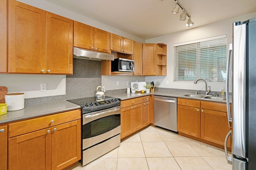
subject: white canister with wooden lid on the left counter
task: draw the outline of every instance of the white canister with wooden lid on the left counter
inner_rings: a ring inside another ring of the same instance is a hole
[[[24,93],[10,93],[5,95],[7,111],[24,109]]]

